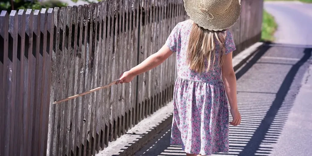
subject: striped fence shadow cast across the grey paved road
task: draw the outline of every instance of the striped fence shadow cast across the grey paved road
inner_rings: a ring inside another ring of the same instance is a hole
[[[279,52],[301,52],[301,58],[276,59]],[[269,156],[278,142],[295,97],[300,89],[312,48],[266,44],[254,57],[236,71],[237,98],[242,115],[241,125],[230,126],[230,151],[239,156]],[[263,71],[264,66],[276,69]],[[261,67],[261,68],[260,68]],[[252,76],[252,77],[251,77]],[[269,84],[261,81],[268,79]],[[257,81],[259,81],[257,83]],[[272,84],[275,84],[272,85]],[[257,88],[258,91],[248,88]],[[231,120],[231,118],[230,118]],[[181,146],[170,145],[170,126],[150,141],[135,156],[185,155]]]

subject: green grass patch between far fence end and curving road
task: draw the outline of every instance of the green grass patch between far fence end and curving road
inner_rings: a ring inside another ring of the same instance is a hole
[[[274,32],[277,29],[277,24],[274,17],[265,10],[263,10],[263,22],[261,29],[261,41],[274,41]]]

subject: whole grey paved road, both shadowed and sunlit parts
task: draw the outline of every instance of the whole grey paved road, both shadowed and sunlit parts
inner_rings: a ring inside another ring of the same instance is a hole
[[[280,44],[266,45],[236,71],[242,122],[230,126],[230,153],[214,155],[312,155],[312,7],[270,2],[265,8],[276,15]],[[185,155],[169,144],[170,133],[168,127],[135,156]]]

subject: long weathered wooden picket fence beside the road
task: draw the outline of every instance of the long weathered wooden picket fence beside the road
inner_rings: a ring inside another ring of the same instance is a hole
[[[260,39],[263,0],[242,0],[237,51]],[[0,15],[0,156],[95,155],[172,100],[175,56],[129,84],[107,84],[187,18],[182,0],[108,0]]]

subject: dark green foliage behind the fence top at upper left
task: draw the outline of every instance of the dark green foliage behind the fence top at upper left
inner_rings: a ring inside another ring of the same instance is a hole
[[[66,7],[67,4],[52,0],[52,1],[46,1],[46,2],[39,2],[38,0],[34,0],[32,2],[30,1],[24,1],[24,0],[14,0],[13,1],[13,8],[14,10],[18,9],[41,9],[41,8],[53,8],[53,7]],[[7,10],[8,12],[11,12],[12,6],[11,6],[11,0],[2,0],[0,2],[0,10]]]

